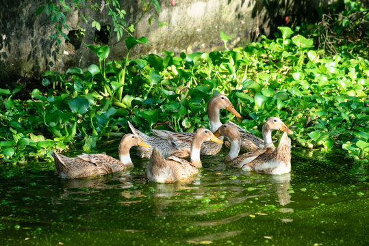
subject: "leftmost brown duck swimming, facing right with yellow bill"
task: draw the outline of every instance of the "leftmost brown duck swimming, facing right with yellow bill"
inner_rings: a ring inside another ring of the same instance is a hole
[[[84,178],[98,174],[111,174],[133,166],[129,155],[129,150],[133,146],[150,148],[149,144],[129,133],[120,140],[118,148],[120,161],[107,154],[80,154],[77,157],[67,157],[53,150],[51,150],[51,156],[60,178]]]

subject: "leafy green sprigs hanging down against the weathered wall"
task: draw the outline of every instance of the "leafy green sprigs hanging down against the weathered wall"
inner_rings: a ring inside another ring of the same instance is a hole
[[[113,31],[116,33],[116,38],[119,41],[123,37],[123,33],[127,32],[129,35],[134,32],[135,26],[142,19],[144,14],[149,12],[151,6],[155,8],[156,13],[159,13],[160,3],[157,0],[150,0],[146,3],[142,0],[142,15],[136,23],[132,23],[131,25],[127,25],[125,23],[125,10],[120,8],[120,3],[118,0],[106,0],[106,1],[97,1],[97,0],[73,0],[73,1],[65,1],[65,0],[46,0],[39,4],[39,8],[36,11],[36,16],[44,12],[48,16],[50,16],[51,23],[55,23],[56,32],[50,36],[56,40],[57,44],[61,44],[62,39],[69,40],[68,31],[71,27],[66,24],[66,13],[72,12],[73,8],[78,8],[79,10],[83,8],[90,8],[93,11],[103,12],[104,9],[107,9],[108,15],[112,18]],[[86,24],[88,21],[91,21],[91,27],[96,28],[98,31],[101,29],[101,24],[98,20],[95,20],[91,16],[84,16],[82,11],[79,11],[79,18],[83,20]],[[151,25],[151,20],[153,16],[149,18],[149,23]],[[79,25],[79,22],[78,24]],[[74,29],[79,30],[78,35],[84,36],[84,28],[79,26],[73,27]],[[64,31],[65,30],[65,31]],[[110,31],[110,30],[108,30]]]

